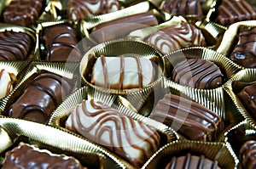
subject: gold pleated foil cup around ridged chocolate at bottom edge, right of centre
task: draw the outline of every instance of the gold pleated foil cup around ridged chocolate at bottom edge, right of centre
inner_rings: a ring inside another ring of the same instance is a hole
[[[238,166],[238,159],[230,148],[229,143],[224,142],[196,142],[177,140],[166,144],[157,151],[142,167],[142,169],[165,168],[173,156],[205,155],[205,158],[218,161],[218,166],[225,169],[233,169]]]

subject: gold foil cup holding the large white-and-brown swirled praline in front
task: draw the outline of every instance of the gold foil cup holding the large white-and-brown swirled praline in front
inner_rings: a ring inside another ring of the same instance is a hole
[[[172,142],[173,140],[177,140],[179,136],[176,132],[172,130],[170,127],[166,127],[166,125],[154,121],[151,119],[148,119],[147,117],[144,117],[143,115],[138,115],[137,113],[127,109],[124,104],[121,104],[119,101],[119,97],[117,95],[109,95],[106,93],[95,93],[95,89],[89,86],[85,86],[80,88],[78,91],[73,93],[70,97],[68,97],[51,115],[49,119],[49,126],[61,128],[64,131],[68,131],[65,127],[65,122],[67,121],[68,115],[76,108],[78,104],[81,104],[83,99],[95,99],[98,101],[101,101],[104,104],[107,104],[108,106],[113,107],[114,109],[119,110],[125,115],[131,116],[134,120],[137,121],[143,121],[144,124],[147,124],[150,127],[154,127],[157,132],[160,134],[160,147]],[[73,135],[78,135],[73,132]],[[86,139],[86,138],[84,138]],[[90,141],[89,141],[90,142]],[[159,147],[159,149],[160,149]],[[110,152],[110,151],[109,151]],[[118,155],[111,153],[114,156],[117,156],[119,161],[122,161],[126,165],[130,167],[132,166],[127,161],[123,160],[121,157],[118,157]]]

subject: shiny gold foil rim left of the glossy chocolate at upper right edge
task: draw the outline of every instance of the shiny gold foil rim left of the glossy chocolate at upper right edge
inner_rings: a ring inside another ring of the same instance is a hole
[[[241,28],[251,28],[255,26],[256,20],[241,21],[230,25],[229,29],[224,32],[223,40],[220,43],[217,52],[230,58],[230,54],[233,52],[238,42]]]

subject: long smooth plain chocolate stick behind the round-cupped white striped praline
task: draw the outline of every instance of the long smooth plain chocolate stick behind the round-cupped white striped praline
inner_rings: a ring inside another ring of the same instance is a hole
[[[131,31],[153,25],[158,25],[158,20],[153,12],[132,14],[96,25],[90,34],[90,38],[95,42],[107,42],[124,38],[131,33]]]

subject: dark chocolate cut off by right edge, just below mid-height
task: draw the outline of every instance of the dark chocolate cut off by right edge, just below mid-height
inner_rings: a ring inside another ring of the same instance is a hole
[[[239,93],[237,93],[238,99],[249,111],[253,119],[256,120],[256,83],[244,87]]]

